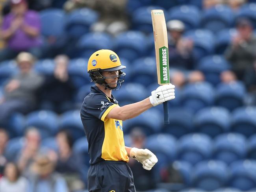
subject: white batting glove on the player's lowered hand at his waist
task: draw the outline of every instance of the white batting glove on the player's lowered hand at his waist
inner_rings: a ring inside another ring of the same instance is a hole
[[[158,162],[158,159],[154,153],[148,149],[132,148],[130,151],[130,157],[136,159],[143,164],[143,168],[146,170],[152,169],[152,167]]]

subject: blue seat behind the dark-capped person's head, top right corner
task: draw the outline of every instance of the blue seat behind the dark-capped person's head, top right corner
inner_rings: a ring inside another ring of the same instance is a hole
[[[256,3],[244,4],[236,14],[236,20],[238,18],[248,18],[251,20],[252,25],[256,28]]]

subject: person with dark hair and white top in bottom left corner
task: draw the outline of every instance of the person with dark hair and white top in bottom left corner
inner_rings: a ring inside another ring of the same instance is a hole
[[[0,180],[0,192],[26,192],[28,181],[25,177],[20,176],[16,164],[9,162],[4,170],[4,177]]]

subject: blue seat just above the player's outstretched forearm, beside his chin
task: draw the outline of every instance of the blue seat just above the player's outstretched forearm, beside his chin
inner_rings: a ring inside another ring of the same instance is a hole
[[[139,83],[124,83],[120,90],[112,92],[112,94],[121,107],[148,97],[147,89]]]

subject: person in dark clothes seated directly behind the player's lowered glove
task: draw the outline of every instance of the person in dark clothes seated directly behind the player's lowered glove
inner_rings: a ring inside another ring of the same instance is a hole
[[[131,147],[145,148],[146,136],[143,131],[141,131],[141,128],[135,127],[130,133],[130,136],[132,139]],[[136,190],[145,191],[155,188],[156,183],[152,171],[147,172],[147,170],[143,169],[141,165],[132,158],[130,158],[128,164],[134,175],[134,185],[136,186]]]

